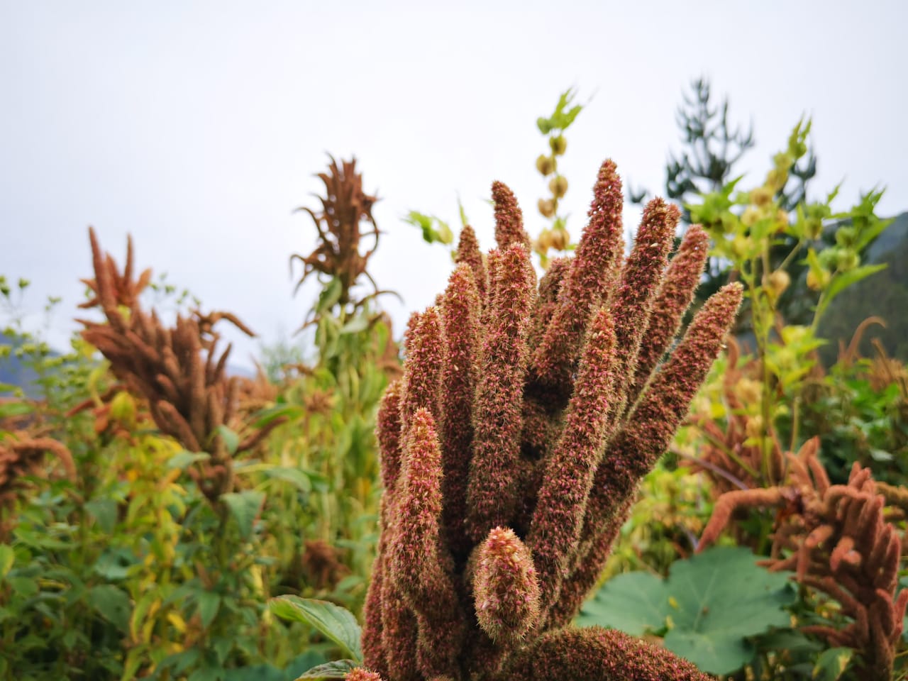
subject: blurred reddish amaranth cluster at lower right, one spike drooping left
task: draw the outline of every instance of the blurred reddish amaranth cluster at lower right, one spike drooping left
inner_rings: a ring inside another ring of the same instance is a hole
[[[716,500],[700,549],[718,538],[735,511],[779,508],[773,535],[773,570],[794,570],[801,584],[834,598],[852,618],[846,627],[809,624],[804,633],[824,637],[830,646],[861,651],[858,678],[887,681],[902,637],[908,589],[898,592],[902,541],[883,512],[870,469],[855,461],[846,485],[830,483],[818,458],[819,438],[788,454],[784,485],[737,489]],[[897,594],[897,595],[896,595]]]

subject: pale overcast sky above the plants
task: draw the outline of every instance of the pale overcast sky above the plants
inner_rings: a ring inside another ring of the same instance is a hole
[[[560,163],[575,235],[603,159],[663,186],[699,75],[754,124],[747,182],[807,114],[818,191],[844,179],[845,208],[886,185],[880,212],[908,210],[901,0],[432,5],[0,0],[0,273],[34,282],[25,311],[62,295],[52,340],[74,328],[93,224],[118,259],[132,232],[140,266],[273,341],[315,294],[291,296],[288,258],[313,245],[292,210],[316,205],[326,153],[355,154],[382,197],[372,273],[404,298],[386,301],[400,334],[450,266],[400,217],[455,224],[459,194],[488,248],[498,179],[538,232],[535,121],[568,86],[591,98]]]

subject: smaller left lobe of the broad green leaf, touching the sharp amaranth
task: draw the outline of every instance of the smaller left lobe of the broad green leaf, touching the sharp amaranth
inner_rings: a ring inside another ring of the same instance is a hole
[[[588,600],[577,617],[577,627],[612,627],[643,636],[666,624],[668,592],[665,580],[649,572],[628,572],[609,579]]]

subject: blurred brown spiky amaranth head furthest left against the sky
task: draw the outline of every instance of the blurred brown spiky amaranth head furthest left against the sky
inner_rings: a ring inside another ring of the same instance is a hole
[[[262,389],[241,382],[226,372],[231,346],[220,355],[221,336],[214,331],[218,321],[230,321],[241,331],[254,335],[230,312],[193,312],[177,315],[172,328],[157,313],[143,310],[138,294],[151,277],[146,270],[132,281],[133,243],[128,242],[126,264],[121,274],[110,253],[101,251],[94,230],[89,228],[94,263],[94,280],[84,280],[94,298],[82,307],[100,307],[106,323],[80,321],[82,337],[100,350],[110,362],[118,380],[135,395],[148,400],[155,424],[163,433],[192,452],[210,455],[189,473],[212,503],[233,489],[233,455],[254,449],[279,422],[249,432],[230,451],[222,427],[245,429],[241,390],[251,398]],[[249,430],[249,429],[247,429]]]

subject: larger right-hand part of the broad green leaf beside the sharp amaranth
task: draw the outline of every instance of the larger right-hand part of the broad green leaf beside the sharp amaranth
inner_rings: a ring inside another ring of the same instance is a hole
[[[716,547],[672,565],[666,580],[673,627],[665,646],[711,674],[730,674],[754,655],[745,640],[787,627],[795,593],[786,573],[769,572],[742,547]]]

